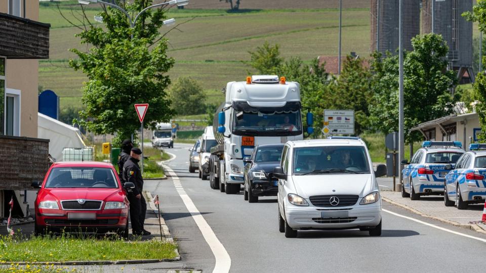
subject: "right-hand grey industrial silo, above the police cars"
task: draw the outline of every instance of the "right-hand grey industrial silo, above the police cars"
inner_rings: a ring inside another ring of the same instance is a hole
[[[432,31],[432,0],[422,2],[422,32]],[[472,70],[472,22],[462,17],[472,11],[472,0],[435,0],[434,33],[441,34],[449,45],[450,69],[458,72],[462,83],[474,81]]]

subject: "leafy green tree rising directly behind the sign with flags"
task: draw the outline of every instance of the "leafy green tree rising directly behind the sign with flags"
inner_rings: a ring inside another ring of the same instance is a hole
[[[369,106],[373,93],[370,88],[370,70],[364,65],[363,59],[347,56],[343,63],[341,75],[332,85],[335,97],[335,109],[354,110],[354,131],[362,133],[370,125]]]

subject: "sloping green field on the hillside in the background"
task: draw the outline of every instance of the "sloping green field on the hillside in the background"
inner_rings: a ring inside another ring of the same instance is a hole
[[[180,76],[198,80],[206,90],[207,103],[220,103],[224,99],[220,90],[226,82],[245,80],[248,73],[253,72],[244,62],[250,59],[248,52],[265,41],[280,44],[283,57],[300,57],[306,62],[320,55],[337,55],[339,13],[336,1],[322,4],[312,0],[296,5],[291,1],[276,0],[279,5],[275,7],[269,4],[262,7],[261,3],[249,1],[246,5],[264,9],[240,13],[216,9],[221,7],[220,3],[211,6],[212,2],[204,1],[210,9],[171,9],[168,18],[176,18],[178,23],[192,20],[180,25],[180,31],[171,31],[167,37],[170,42],[168,54],[176,60],[169,75],[173,80]],[[365,2],[359,0],[345,5],[343,53],[370,54],[370,18]],[[199,7],[199,4],[194,6]],[[82,13],[76,1],[61,2],[60,5],[68,20],[79,23],[76,17],[82,19]],[[100,11],[100,6],[93,5],[88,7],[86,14],[92,19]],[[41,4],[39,21],[51,24],[51,59],[39,62],[39,85],[54,90],[61,97],[61,108],[79,106],[81,87],[87,78],[82,72],[69,68],[68,59],[75,58],[69,49],[88,50],[89,47],[74,37],[80,30],[61,17],[55,3]],[[160,29],[161,33],[168,30]]]

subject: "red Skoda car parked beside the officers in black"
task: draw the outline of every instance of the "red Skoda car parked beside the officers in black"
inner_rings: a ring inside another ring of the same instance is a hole
[[[128,237],[129,201],[115,168],[103,162],[54,163],[35,199],[35,234],[116,232]],[[134,188],[125,183],[125,188]]]

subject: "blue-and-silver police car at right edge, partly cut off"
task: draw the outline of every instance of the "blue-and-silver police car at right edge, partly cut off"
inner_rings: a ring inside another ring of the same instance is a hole
[[[467,208],[468,204],[484,203],[486,197],[486,144],[471,144],[446,176],[444,204]]]

